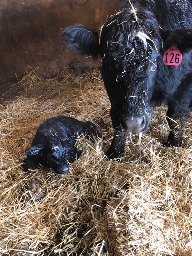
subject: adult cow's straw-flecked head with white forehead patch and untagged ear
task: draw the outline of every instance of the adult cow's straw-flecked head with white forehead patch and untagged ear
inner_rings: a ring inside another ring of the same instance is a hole
[[[149,101],[161,41],[152,12],[122,11],[100,30],[75,25],[63,29],[62,37],[80,54],[101,56],[113,126],[127,132],[145,131],[152,115]]]

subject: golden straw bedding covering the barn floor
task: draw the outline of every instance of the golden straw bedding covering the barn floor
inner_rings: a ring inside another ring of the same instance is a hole
[[[10,86],[0,105],[1,255],[192,255],[192,116],[183,148],[165,148],[166,107],[156,108],[140,147],[128,138],[126,154],[109,161],[110,104],[98,70],[67,68],[49,80],[32,71]],[[94,122],[105,145],[80,139],[68,174],[24,173],[19,157],[57,115]]]

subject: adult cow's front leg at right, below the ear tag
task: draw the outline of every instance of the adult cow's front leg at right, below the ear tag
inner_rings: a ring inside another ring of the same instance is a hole
[[[183,102],[168,102],[166,118],[171,129],[167,139],[168,146],[180,147],[182,144],[182,134],[189,114],[189,102],[186,102],[185,99],[184,97]]]

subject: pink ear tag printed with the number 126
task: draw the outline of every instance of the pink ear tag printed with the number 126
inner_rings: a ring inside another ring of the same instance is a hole
[[[178,66],[181,63],[182,54],[177,48],[177,45],[172,45],[163,55],[163,62],[166,65]]]

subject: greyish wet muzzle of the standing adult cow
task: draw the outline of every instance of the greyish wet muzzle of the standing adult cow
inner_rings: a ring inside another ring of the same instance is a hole
[[[122,122],[127,132],[133,132],[133,133],[142,132],[146,124],[144,116],[123,117]]]

